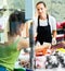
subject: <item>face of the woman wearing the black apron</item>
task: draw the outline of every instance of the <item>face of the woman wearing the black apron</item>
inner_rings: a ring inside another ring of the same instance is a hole
[[[43,16],[47,14],[47,8],[43,5],[43,3],[39,3],[36,8],[38,15]]]

